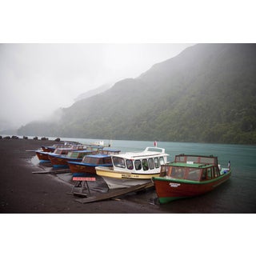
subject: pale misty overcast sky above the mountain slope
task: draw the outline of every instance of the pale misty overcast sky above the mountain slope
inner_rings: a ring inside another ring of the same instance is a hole
[[[103,84],[136,78],[191,44],[0,44],[0,130],[47,118]]]

